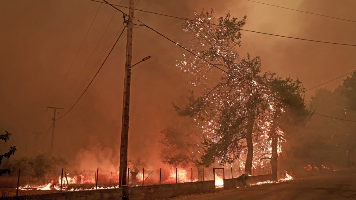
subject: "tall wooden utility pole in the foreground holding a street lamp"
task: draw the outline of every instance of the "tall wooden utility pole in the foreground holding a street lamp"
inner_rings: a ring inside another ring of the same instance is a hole
[[[131,60],[132,60],[132,30],[133,30],[133,4],[130,0],[129,22],[127,24],[127,44],[126,44],[126,64],[124,81],[124,99],[122,102],[122,124],[121,124],[121,144],[120,144],[120,169],[119,169],[119,187],[127,186],[127,145],[129,138],[129,108],[130,108],[130,83],[131,83]],[[125,188],[126,189],[126,188]],[[127,188],[128,190],[128,188]],[[125,194],[124,198],[128,198]]]

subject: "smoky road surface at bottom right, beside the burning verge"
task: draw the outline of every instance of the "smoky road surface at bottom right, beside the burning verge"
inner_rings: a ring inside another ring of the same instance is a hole
[[[292,182],[220,190],[210,194],[185,195],[169,200],[276,200],[356,199],[356,170],[313,175]]]

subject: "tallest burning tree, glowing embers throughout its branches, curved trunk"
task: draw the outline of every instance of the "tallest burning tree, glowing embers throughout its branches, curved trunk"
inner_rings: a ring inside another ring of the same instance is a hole
[[[185,23],[185,31],[192,33],[191,54],[184,55],[177,66],[184,72],[195,75],[193,85],[205,83],[206,75],[214,67],[223,67],[221,83],[206,88],[203,97],[189,98],[185,109],[176,106],[181,116],[190,116],[201,120],[199,125],[207,135],[203,155],[203,164],[211,165],[215,160],[221,164],[236,160],[242,149],[247,148],[245,172],[251,174],[253,160],[253,137],[261,133],[260,118],[265,117],[268,95],[266,81],[270,74],[259,75],[261,61],[259,57],[240,58],[236,46],[241,45],[240,28],[245,24],[246,16],[238,21],[227,14],[218,19],[219,24],[211,23],[213,10],[200,15],[195,14],[194,21]],[[199,55],[197,57],[196,55]],[[202,59],[210,63],[204,62]],[[252,135],[252,132],[254,134]]]

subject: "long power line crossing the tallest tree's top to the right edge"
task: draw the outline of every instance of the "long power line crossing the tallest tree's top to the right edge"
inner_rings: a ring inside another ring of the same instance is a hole
[[[100,2],[100,1],[96,1],[96,0],[90,0],[90,1],[95,1],[95,2],[99,2],[102,4],[109,4],[104,2]],[[115,4],[109,4],[111,6],[119,6],[119,5],[115,5]],[[126,6],[119,6],[119,7],[124,7],[124,8],[129,8]],[[116,8],[115,8],[116,9]],[[176,19],[181,19],[181,20],[189,20],[189,21],[193,21],[193,22],[199,22],[199,23],[205,23],[208,25],[214,25],[214,26],[221,26],[221,27],[225,27],[225,28],[234,28],[234,27],[228,27],[228,26],[222,26],[222,25],[218,25],[218,24],[214,24],[214,23],[208,23],[208,22],[202,22],[202,21],[198,21],[198,20],[190,20],[187,18],[183,18],[183,17],[176,17],[176,16],[171,16],[171,15],[165,15],[165,14],[160,14],[157,12],[151,12],[151,11],[146,11],[146,10],[140,10],[140,9],[133,9],[133,10],[137,10],[137,11],[142,11],[142,12],[147,12],[147,13],[151,13],[151,14],[156,14],[156,15],[161,15],[161,16],[166,16],[166,17],[172,17],[172,18],[176,18]],[[122,12],[122,11],[121,11]],[[242,28],[235,28],[235,29],[239,29],[241,31],[248,31],[248,32],[253,32],[253,33],[260,33],[260,34],[264,34],[264,35],[271,35],[271,36],[277,36],[277,37],[285,37],[285,38],[291,38],[291,39],[296,39],[296,40],[304,40],[304,41],[310,41],[310,42],[320,42],[320,43],[328,43],[328,44],[338,44],[338,45],[345,45],[345,46],[356,46],[356,44],[344,44],[344,43],[336,43],[336,42],[325,42],[325,41],[319,41],[319,40],[309,40],[309,39],[304,39],[304,38],[298,38],[298,37],[289,37],[289,36],[282,36],[282,35],[277,35],[277,34],[272,34],[272,33],[265,33],[265,32],[259,32],[259,31],[251,31],[251,30],[247,30],[247,29],[242,29]]]

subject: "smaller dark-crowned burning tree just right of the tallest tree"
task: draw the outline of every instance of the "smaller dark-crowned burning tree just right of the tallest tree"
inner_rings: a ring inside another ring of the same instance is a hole
[[[277,180],[278,154],[281,153],[281,142],[285,141],[284,127],[305,122],[311,113],[305,109],[305,88],[298,79],[274,78],[269,85],[271,94],[277,98],[269,102],[273,112],[263,129],[271,141],[272,179]]]

